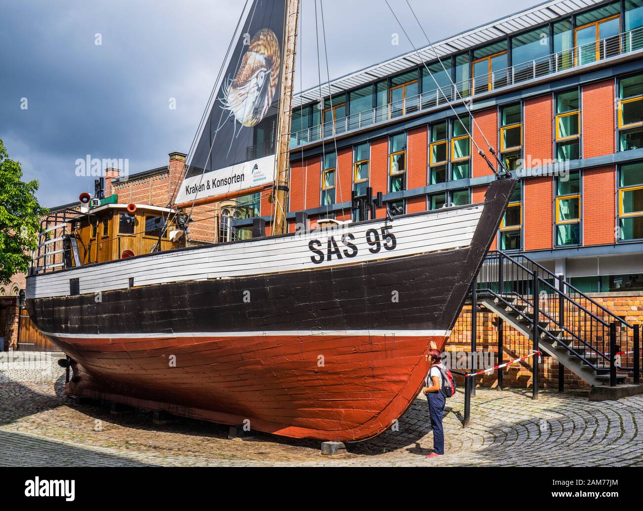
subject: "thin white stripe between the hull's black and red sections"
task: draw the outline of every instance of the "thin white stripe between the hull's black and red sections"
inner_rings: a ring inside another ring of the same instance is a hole
[[[451,330],[283,330],[275,332],[176,332],[159,334],[52,334],[60,339],[167,339],[168,337],[448,337]]]

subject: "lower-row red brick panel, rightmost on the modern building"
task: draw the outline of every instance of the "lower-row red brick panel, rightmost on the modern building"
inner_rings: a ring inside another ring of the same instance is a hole
[[[583,173],[583,244],[614,243],[616,184],[614,166]]]

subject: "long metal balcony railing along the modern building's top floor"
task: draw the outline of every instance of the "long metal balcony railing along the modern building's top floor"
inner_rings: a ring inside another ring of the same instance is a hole
[[[383,121],[407,116],[466,98],[474,98],[502,87],[520,84],[542,76],[552,75],[574,67],[601,62],[606,58],[643,49],[643,27],[605,39],[565,49],[552,55],[500,69],[487,75],[473,76],[462,82],[436,87],[417,96],[410,96],[367,111],[350,114],[323,125],[303,129],[291,134],[290,147],[331,138],[353,130],[363,129]],[[296,109],[295,109],[296,110]]]

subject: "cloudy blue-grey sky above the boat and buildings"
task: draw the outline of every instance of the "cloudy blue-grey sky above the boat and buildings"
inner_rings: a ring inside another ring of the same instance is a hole
[[[331,78],[412,49],[402,34],[399,46],[392,44],[400,30],[385,0],[318,0],[318,12],[319,1]],[[421,31],[406,2],[390,3],[419,46]],[[429,37],[439,40],[539,2],[410,3]],[[243,5],[0,0],[0,139],[25,179],[39,179],[42,204],[66,204],[93,188],[93,178],[75,173],[76,160],[88,154],[127,158],[134,173],[167,165],[169,152],[187,152]],[[304,88],[318,84],[314,32],[314,0],[302,0]]]

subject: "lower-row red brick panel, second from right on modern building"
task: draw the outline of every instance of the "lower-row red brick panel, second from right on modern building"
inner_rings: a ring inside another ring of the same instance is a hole
[[[525,180],[523,213],[525,250],[552,247],[553,193],[552,177],[532,177]]]

